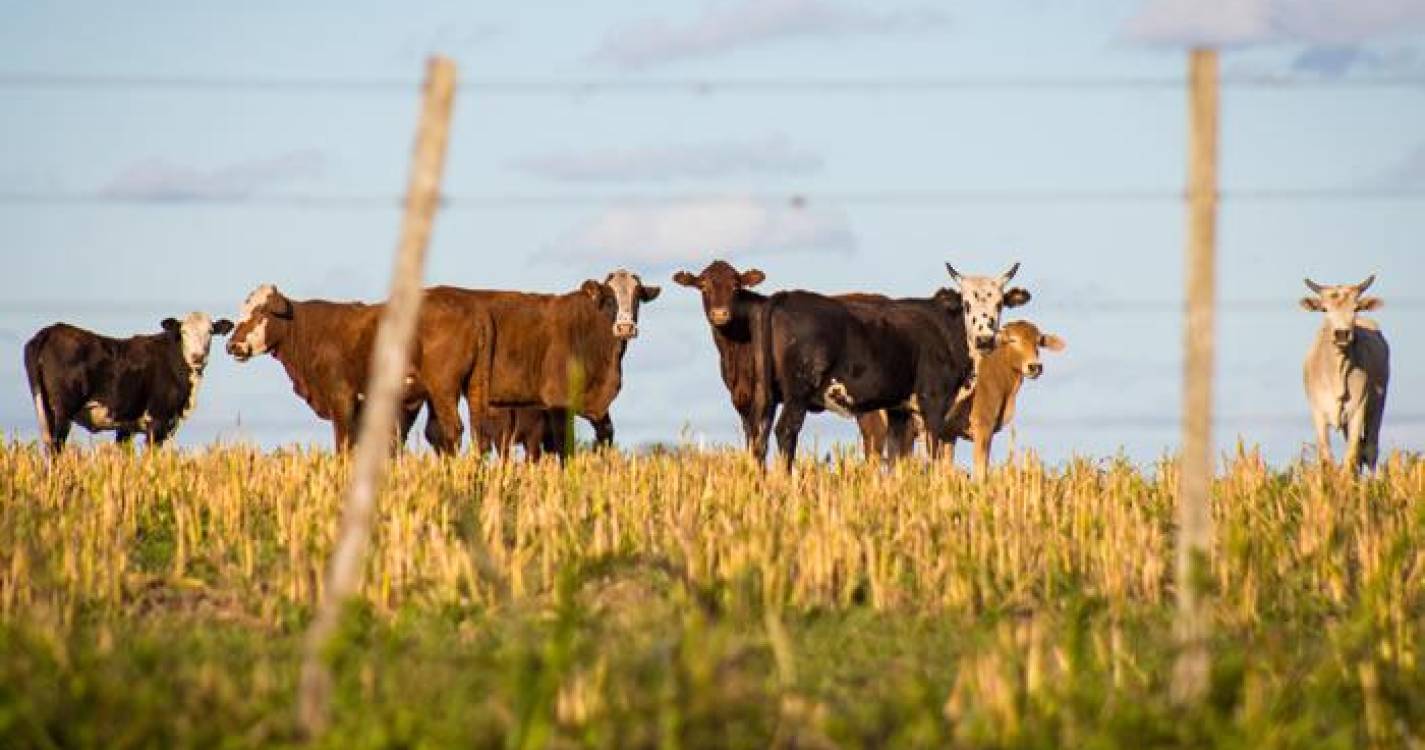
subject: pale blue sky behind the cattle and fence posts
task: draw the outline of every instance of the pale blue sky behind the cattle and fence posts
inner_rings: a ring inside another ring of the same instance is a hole
[[[646,308],[620,442],[737,439],[697,295],[711,258],[768,289],[923,295],[942,264],[1016,279],[1060,334],[1015,442],[1050,459],[1177,441],[1184,44],[1224,44],[1217,438],[1274,461],[1310,439],[1295,301],[1379,272],[1388,446],[1425,443],[1425,7],[1418,0],[1100,3],[0,1],[0,74],[412,86],[0,86],[0,429],[33,438],[20,346],[113,335],[275,282],[376,299],[426,54],[467,83],[969,80],[1147,86],[462,90],[428,279],[567,291],[627,265]],[[1414,86],[1377,86],[1405,77]],[[30,78],[21,78],[30,80]],[[1261,194],[1258,191],[1265,191]],[[1288,191],[1281,194],[1280,191]],[[1358,195],[1300,195],[1342,191]],[[996,200],[966,200],[989,192]],[[1079,198],[1072,198],[1080,194]],[[1361,197],[1365,194],[1367,197]],[[798,207],[792,195],[805,197]],[[899,198],[896,198],[899,195]],[[938,195],[938,197],[935,197]],[[1019,195],[1020,198],[1015,198]],[[44,200],[17,200],[41,197]],[[86,197],[81,201],[54,200]],[[284,197],[351,197],[294,202]],[[509,200],[516,197],[520,200]],[[496,200],[500,198],[500,200]],[[560,200],[551,200],[560,198]],[[808,422],[822,446],[835,416]],[[103,439],[108,439],[107,436]],[[271,359],[214,352],[184,445],[329,445]],[[1003,456],[1000,441],[996,458]]]

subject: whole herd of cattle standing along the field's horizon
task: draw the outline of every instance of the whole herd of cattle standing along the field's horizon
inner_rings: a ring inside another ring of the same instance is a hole
[[[898,461],[923,441],[953,461],[955,443],[975,446],[975,473],[989,465],[993,435],[1015,415],[1025,378],[1043,372],[1040,352],[1063,339],[1027,321],[1000,325],[1005,308],[1029,302],[1000,275],[962,275],[929,297],[822,295],[754,291],[765,274],[714,261],[673,281],[694,289],[718,352],[722,382],[747,448],[760,461],[775,436],[789,469],[808,413],[855,419],[871,459]],[[1307,279],[1308,311],[1325,322],[1307,355],[1307,399],[1321,459],[1330,429],[1347,438],[1347,465],[1374,468],[1389,379],[1389,349],[1378,325],[1358,314],[1381,305],[1364,297],[1374,277],[1322,287]],[[403,379],[399,433],[405,443],[422,409],[425,436],[440,453],[460,451],[465,399],[472,442],[509,458],[567,455],[574,416],[613,443],[610,406],[623,386],[623,358],[638,337],[641,305],[658,298],[618,269],[566,294],[433,287],[425,291]],[[383,305],[292,299],[272,284],[254,289],[237,324],[202,312],[162,321],[158,334],[108,338],[68,324],[37,332],[24,365],[40,435],[51,453],[71,425],[144,433],[160,445],[191,413],[214,335],[229,335],[238,362],[271,355],[292,389],[332,423],[339,451],[352,446]]]

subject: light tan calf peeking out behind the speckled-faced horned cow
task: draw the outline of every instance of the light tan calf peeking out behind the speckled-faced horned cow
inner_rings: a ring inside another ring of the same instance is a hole
[[[980,356],[975,388],[969,398],[959,401],[945,422],[945,443],[950,461],[955,441],[975,441],[975,476],[989,472],[989,446],[995,433],[1015,418],[1015,398],[1025,378],[1039,378],[1045,365],[1039,349],[1063,351],[1064,342],[1053,334],[1040,334],[1035,324],[1015,321],[995,335],[996,346]]]

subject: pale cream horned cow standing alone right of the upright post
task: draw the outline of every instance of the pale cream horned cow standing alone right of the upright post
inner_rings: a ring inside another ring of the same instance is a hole
[[[1301,299],[1302,309],[1325,314],[1304,366],[1317,455],[1332,461],[1330,428],[1337,428],[1345,433],[1345,466],[1374,469],[1391,379],[1391,348],[1375,321],[1358,312],[1381,308],[1379,298],[1361,297],[1375,277],[1341,287],[1305,281],[1315,294]]]

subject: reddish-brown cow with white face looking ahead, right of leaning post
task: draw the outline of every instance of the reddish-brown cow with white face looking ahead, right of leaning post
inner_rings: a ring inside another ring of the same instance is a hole
[[[445,448],[460,445],[462,395],[472,425],[490,406],[549,409],[560,455],[570,412],[593,423],[600,445],[611,443],[608,406],[623,388],[623,355],[638,335],[640,305],[660,291],[623,269],[567,294],[428,289],[419,379]]]

